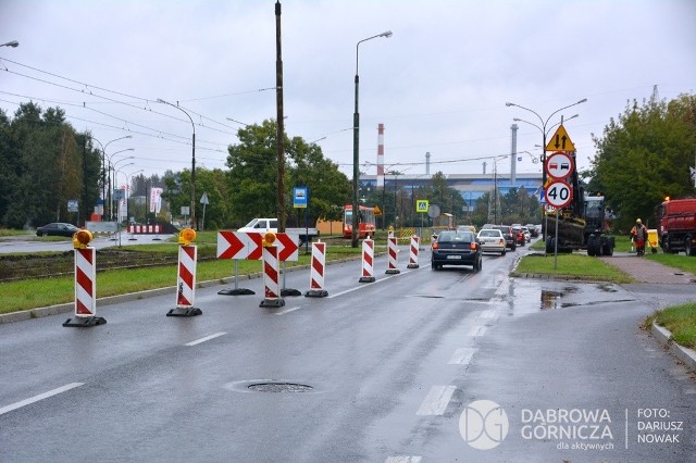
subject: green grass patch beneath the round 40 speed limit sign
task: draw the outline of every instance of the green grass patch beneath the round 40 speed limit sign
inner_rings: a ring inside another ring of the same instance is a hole
[[[605,264],[597,258],[583,254],[530,254],[520,260],[512,276],[524,274],[554,275],[558,277],[573,277],[579,279],[633,283],[633,279],[618,268]]]

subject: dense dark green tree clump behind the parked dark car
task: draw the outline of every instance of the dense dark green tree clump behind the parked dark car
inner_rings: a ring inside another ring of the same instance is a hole
[[[99,170],[86,137],[65,122],[60,108],[44,112],[36,103],[23,103],[12,121],[2,113],[0,225],[84,222],[96,198]],[[82,215],[67,212],[69,200],[82,203]]]

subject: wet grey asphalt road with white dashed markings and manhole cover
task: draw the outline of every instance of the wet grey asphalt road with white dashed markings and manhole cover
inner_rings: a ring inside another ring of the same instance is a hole
[[[510,279],[522,252],[330,265],[327,298],[279,309],[253,279],[191,318],[172,293],[0,325],[0,461],[696,461],[696,381],[639,329],[693,286]]]

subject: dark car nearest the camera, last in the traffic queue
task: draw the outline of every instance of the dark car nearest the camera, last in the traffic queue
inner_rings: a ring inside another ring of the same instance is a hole
[[[443,265],[471,265],[474,272],[478,272],[482,267],[481,245],[472,232],[440,232],[432,248],[433,270]]]

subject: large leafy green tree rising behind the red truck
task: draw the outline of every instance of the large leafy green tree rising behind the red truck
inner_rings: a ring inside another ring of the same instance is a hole
[[[593,139],[597,154],[587,189],[605,193],[619,229],[629,229],[636,217],[652,227],[654,208],[664,197],[694,195],[696,96],[670,102],[652,98],[642,105],[634,100]]]

